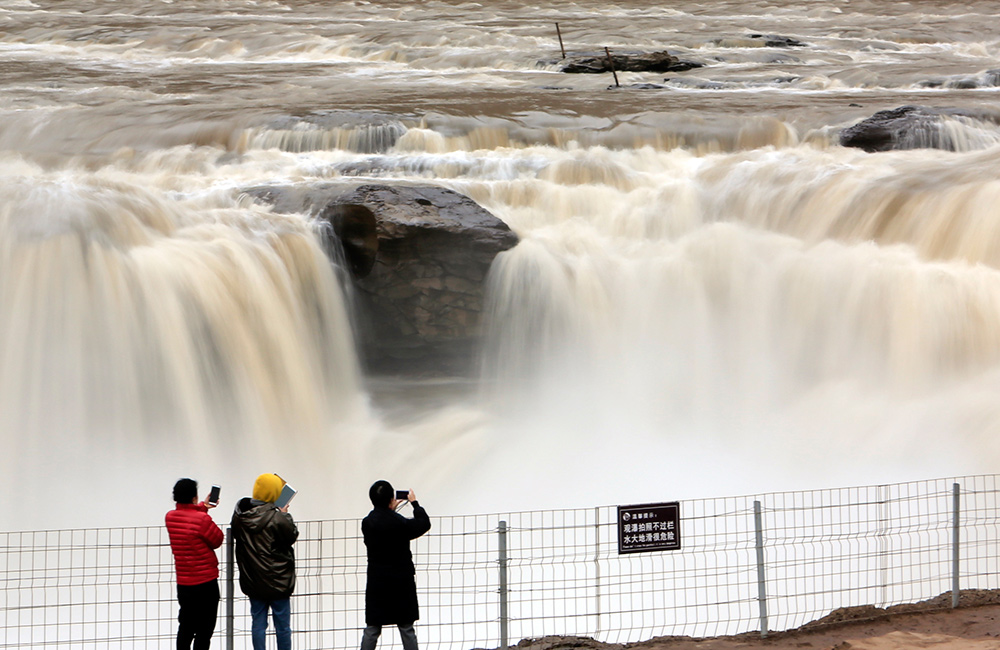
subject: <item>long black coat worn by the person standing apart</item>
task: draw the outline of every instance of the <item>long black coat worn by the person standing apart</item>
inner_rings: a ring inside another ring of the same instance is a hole
[[[416,501],[413,519],[389,508],[375,508],[361,520],[368,548],[366,625],[405,625],[420,618],[410,540],[430,529],[431,520]]]

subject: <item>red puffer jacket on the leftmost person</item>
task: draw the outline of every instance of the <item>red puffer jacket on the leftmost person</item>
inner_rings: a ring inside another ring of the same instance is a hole
[[[167,513],[170,550],[174,552],[177,584],[200,585],[219,577],[219,558],[215,549],[222,546],[222,529],[215,525],[203,503],[178,503]]]

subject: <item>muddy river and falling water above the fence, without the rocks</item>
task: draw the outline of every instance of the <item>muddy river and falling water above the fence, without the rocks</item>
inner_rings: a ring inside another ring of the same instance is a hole
[[[225,505],[277,472],[327,518],[377,478],[447,514],[996,471],[993,13],[7,3],[4,527],[155,524],[188,475]],[[609,88],[558,72],[556,22],[705,66]],[[909,104],[983,119],[837,144]],[[479,377],[366,375],[310,215],[244,194],[331,179],[442,185],[519,235]]]

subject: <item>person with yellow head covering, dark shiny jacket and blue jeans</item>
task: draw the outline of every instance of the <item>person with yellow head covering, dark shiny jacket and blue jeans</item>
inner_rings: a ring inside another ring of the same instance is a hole
[[[250,599],[250,638],[254,650],[265,650],[267,614],[271,612],[278,650],[291,650],[292,610],[295,591],[295,551],[292,545],[299,529],[288,506],[274,502],[285,481],[277,474],[261,474],[253,484],[253,496],[236,502],[233,537],[240,589]]]

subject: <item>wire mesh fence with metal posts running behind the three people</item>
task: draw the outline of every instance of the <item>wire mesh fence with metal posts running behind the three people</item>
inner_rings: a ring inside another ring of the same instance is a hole
[[[997,479],[684,501],[679,550],[627,555],[618,553],[615,507],[432,517],[413,543],[418,636],[424,648],[466,650],[551,634],[614,643],[767,634],[841,607],[914,603],[955,585],[996,589]],[[299,530],[293,647],[358,647],[360,522]],[[0,539],[0,648],[172,645],[173,560],[162,527]],[[249,647],[248,603],[227,585],[225,551],[214,645]],[[386,628],[383,643],[398,641]]]

